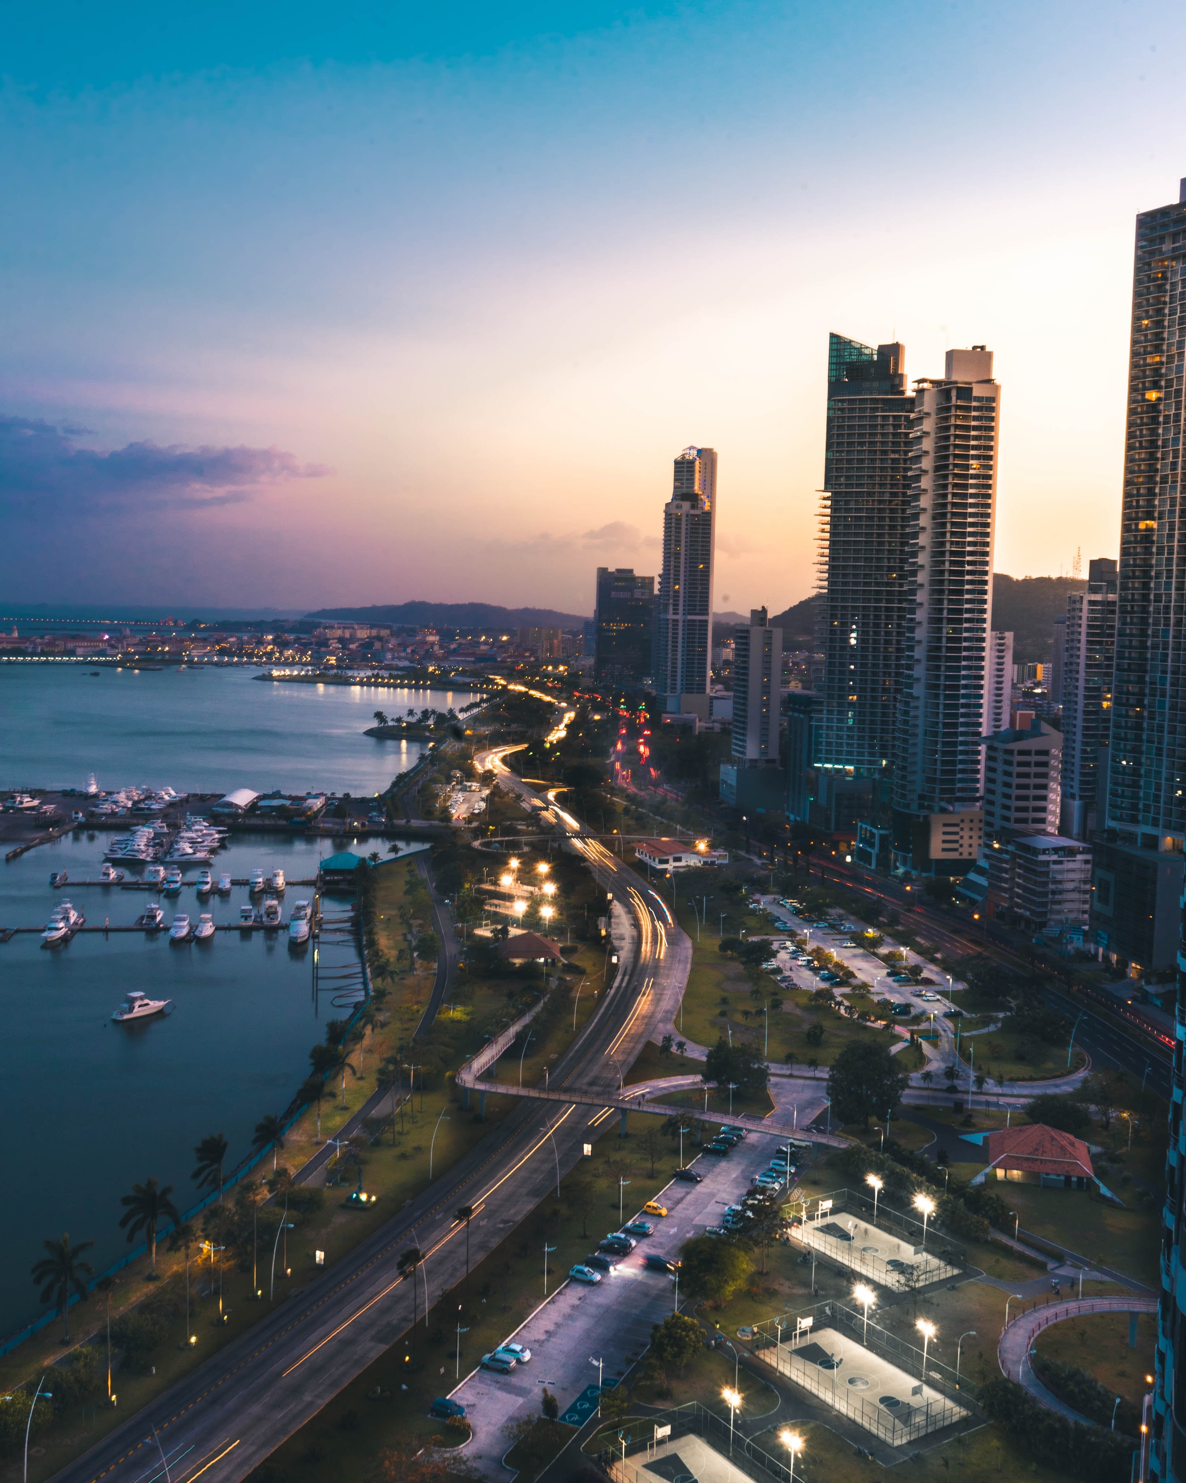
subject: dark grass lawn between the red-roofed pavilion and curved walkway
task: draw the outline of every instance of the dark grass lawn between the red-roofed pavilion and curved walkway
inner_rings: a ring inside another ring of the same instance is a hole
[[[992,1186],[1020,1216],[1021,1231],[1063,1246],[1125,1277],[1158,1284],[1161,1210],[1119,1210],[1087,1189],[1042,1189],[1002,1180]]]

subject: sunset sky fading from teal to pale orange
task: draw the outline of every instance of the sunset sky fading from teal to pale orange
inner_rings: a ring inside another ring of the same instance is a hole
[[[1186,7],[42,0],[0,53],[0,608],[814,586],[827,334],[987,344],[996,569],[1115,555]]]

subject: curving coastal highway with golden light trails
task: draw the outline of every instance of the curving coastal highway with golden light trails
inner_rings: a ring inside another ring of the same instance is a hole
[[[544,802],[506,768],[506,749],[479,756],[526,801]],[[614,983],[557,1060],[551,1089],[569,1083],[586,1096],[612,1093],[652,1028],[670,1019],[688,979],[691,943],[633,871],[587,838],[549,801],[549,816],[629,914]],[[600,1114],[594,1115],[599,1120]],[[471,1264],[479,1262],[571,1169],[581,1143],[597,1136],[577,1103],[523,1102],[458,1166],[437,1179],[351,1256],[295,1292],[276,1311],[151,1406],[116,1428],[55,1483],[237,1483],[325,1403],[399,1341],[412,1323],[411,1278],[397,1258],[425,1253],[415,1281],[420,1312],[464,1274],[461,1204],[473,1204]]]

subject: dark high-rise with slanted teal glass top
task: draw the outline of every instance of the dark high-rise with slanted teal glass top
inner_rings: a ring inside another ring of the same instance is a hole
[[[820,509],[820,636],[815,768],[888,774],[901,684],[910,564],[906,552],[910,414],[906,347],[827,343],[827,435]]]

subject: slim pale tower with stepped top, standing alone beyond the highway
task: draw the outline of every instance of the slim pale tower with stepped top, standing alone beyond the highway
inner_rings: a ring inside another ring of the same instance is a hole
[[[709,716],[716,535],[716,452],[685,448],[663,507],[654,682],[666,710]]]

